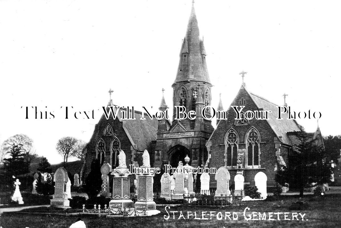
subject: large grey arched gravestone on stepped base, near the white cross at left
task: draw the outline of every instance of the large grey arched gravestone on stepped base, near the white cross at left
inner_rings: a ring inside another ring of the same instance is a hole
[[[67,184],[69,182],[68,172],[64,167],[59,167],[53,177],[55,182],[55,194],[51,199],[51,206],[70,208],[70,201],[66,193]],[[70,183],[71,186],[71,183]]]

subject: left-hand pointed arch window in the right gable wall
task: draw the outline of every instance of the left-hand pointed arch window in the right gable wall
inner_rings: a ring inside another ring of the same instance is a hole
[[[225,135],[225,166],[237,166],[238,134],[234,129],[227,131]]]

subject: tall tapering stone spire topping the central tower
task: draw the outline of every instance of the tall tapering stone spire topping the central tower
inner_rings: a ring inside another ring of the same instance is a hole
[[[199,37],[198,21],[196,19],[194,1],[188,20],[186,36],[182,41],[180,62],[175,83],[194,80],[210,83],[204,41]]]

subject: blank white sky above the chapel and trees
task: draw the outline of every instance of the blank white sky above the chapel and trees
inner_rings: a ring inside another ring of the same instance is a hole
[[[249,91],[279,105],[287,93],[294,111],[322,113],[323,135],[341,134],[340,6],[197,0],[212,105],[221,92],[227,109],[244,70]],[[55,164],[62,162],[55,149],[59,138],[90,139],[109,88],[115,104],[135,109],[159,107],[164,88],[172,106],[190,10],[191,0],[0,1],[0,143],[26,134],[36,152]],[[21,106],[37,106],[55,118],[34,119],[31,110],[25,119]],[[65,120],[61,106],[94,109],[95,119]],[[307,131],[316,129],[315,119],[297,121]]]

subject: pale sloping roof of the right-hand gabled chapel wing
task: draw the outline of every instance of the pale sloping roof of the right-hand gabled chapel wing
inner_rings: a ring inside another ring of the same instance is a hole
[[[287,132],[301,131],[300,126],[297,124],[296,120],[288,120],[287,118],[282,118],[277,120],[278,108],[276,104],[266,100],[265,98],[258,96],[256,94],[250,93],[252,100],[255,102],[258,108],[263,108],[263,110],[271,111],[269,119],[267,120],[273,131],[278,137],[282,137],[282,142],[287,145],[292,145],[290,138],[287,136]]]

